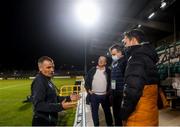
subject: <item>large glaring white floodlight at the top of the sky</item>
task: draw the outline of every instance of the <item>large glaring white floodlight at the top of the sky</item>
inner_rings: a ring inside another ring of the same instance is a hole
[[[81,0],[75,8],[79,20],[86,26],[92,26],[98,21],[100,11],[92,0]]]

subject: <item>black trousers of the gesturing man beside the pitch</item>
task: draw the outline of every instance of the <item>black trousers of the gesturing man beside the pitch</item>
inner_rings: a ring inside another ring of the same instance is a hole
[[[57,126],[57,121],[50,121],[48,117],[34,116],[32,119],[32,126]]]

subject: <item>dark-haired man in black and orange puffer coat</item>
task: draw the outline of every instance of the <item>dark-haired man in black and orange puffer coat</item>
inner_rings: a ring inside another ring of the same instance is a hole
[[[158,126],[157,53],[144,33],[134,29],[124,33],[127,67],[121,113],[123,125]]]

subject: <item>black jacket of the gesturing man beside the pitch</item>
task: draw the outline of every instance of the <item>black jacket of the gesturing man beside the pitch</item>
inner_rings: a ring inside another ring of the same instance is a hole
[[[63,110],[61,102],[70,97],[60,97],[57,95],[57,88],[50,78],[39,73],[31,85],[31,95],[34,108],[34,116],[44,118],[49,121],[57,121],[58,112]]]

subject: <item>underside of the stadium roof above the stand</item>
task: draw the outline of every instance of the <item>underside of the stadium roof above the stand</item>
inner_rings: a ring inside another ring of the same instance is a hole
[[[92,55],[104,54],[113,42],[121,41],[124,31],[132,28],[140,27],[153,43],[172,35],[174,16],[179,13],[176,10],[178,2],[164,0],[167,5],[165,8],[160,8],[162,2],[162,0],[117,0],[106,5],[106,26],[99,33],[95,32],[93,39],[89,40],[89,53]],[[155,15],[148,18],[153,12]],[[177,23],[176,19],[176,25]],[[178,27],[176,26],[176,28]]]

